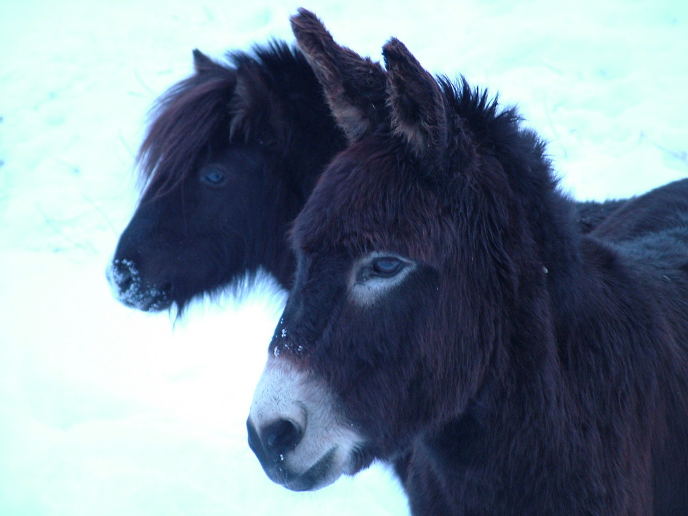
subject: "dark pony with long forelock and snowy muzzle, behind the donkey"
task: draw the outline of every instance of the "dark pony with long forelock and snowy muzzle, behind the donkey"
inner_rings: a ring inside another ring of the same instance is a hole
[[[156,105],[139,153],[147,189],[108,271],[118,299],[139,310],[182,310],[259,268],[290,286],[286,230],[345,146],[298,50],[272,43],[228,64],[193,58],[196,73]],[[366,109],[384,109],[384,88],[367,98]],[[622,203],[579,204],[581,226]]]

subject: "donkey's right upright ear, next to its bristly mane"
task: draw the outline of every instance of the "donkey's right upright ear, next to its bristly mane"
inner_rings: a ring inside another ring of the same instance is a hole
[[[418,155],[447,147],[447,113],[437,80],[396,38],[383,47],[392,130]]]

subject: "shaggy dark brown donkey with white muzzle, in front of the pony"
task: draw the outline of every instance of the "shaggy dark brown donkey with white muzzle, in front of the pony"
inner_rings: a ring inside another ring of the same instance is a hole
[[[248,419],[270,478],[378,458],[414,515],[688,514],[688,200],[583,235],[515,109],[396,39],[385,74],[292,26],[351,144],[291,233]]]

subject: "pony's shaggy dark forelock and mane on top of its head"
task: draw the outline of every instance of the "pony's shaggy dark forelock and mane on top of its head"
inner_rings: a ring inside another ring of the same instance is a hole
[[[228,52],[225,63],[211,62],[173,85],[153,105],[152,122],[137,157],[142,186],[155,184],[157,195],[164,195],[188,177],[215,145],[230,140],[237,115],[231,109],[237,70],[246,65],[259,70],[264,83],[275,92],[285,92],[282,95],[292,103],[319,89],[303,55],[282,41],[255,45],[250,52]],[[299,112],[298,107],[293,109]],[[250,130],[246,124],[242,136],[250,138]]]

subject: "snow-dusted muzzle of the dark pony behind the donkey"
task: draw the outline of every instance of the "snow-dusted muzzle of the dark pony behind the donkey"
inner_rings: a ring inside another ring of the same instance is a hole
[[[158,312],[166,310],[173,302],[170,286],[157,287],[146,283],[130,260],[113,260],[105,276],[114,297],[129,308]]]

